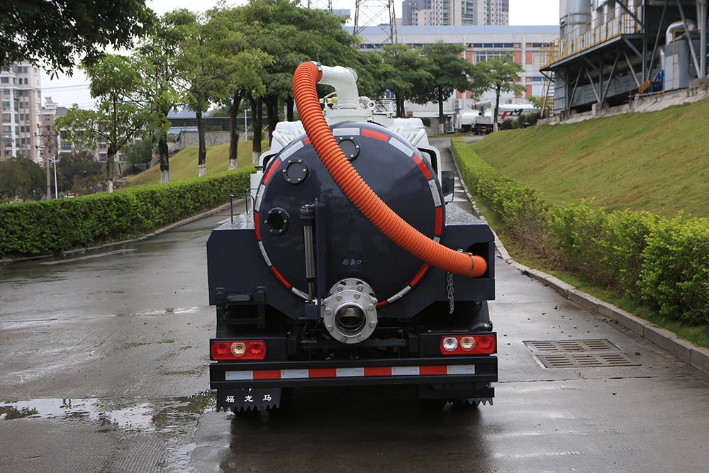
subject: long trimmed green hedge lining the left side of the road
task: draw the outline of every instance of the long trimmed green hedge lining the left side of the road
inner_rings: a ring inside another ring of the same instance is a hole
[[[0,206],[0,259],[51,255],[145,235],[250,187],[244,167],[113,194]]]

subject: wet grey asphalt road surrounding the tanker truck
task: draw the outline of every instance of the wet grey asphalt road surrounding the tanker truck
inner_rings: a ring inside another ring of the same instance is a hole
[[[501,261],[494,406],[324,389],[289,413],[214,412],[205,243],[225,218],[0,267],[1,472],[706,471],[709,377]]]

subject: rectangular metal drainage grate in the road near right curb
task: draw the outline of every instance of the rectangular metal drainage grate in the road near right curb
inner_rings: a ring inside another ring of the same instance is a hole
[[[639,366],[608,340],[528,340],[532,356],[545,368]]]

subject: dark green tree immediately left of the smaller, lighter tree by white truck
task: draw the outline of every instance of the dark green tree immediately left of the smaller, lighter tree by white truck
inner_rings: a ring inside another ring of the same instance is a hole
[[[460,57],[465,48],[459,44],[445,44],[442,41],[425,45],[421,54],[428,60],[428,71],[431,79],[428,87],[421,94],[414,97],[418,103],[437,102],[438,104],[438,133],[443,133],[446,122],[443,114],[443,102],[450,98],[453,91],[466,92],[476,90],[471,87],[468,79],[473,74],[474,67],[467,60]],[[482,91],[479,91],[481,94]],[[479,95],[478,94],[478,95]]]

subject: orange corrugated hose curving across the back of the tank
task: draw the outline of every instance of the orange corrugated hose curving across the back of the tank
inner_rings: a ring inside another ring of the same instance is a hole
[[[396,215],[359,176],[323,116],[316,90],[321,77],[318,66],[303,62],[293,76],[293,95],[303,128],[337,186],[376,228],[411,255],[445,272],[468,277],[484,274],[487,263],[483,257],[451,250],[426,237]]]

